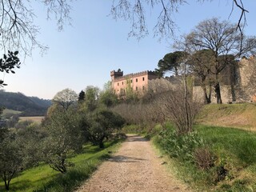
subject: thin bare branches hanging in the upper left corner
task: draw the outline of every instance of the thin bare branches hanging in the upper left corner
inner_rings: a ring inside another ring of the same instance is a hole
[[[65,22],[70,22],[70,2],[71,0],[36,1],[46,6],[47,18],[54,15],[59,30],[62,30]],[[30,55],[35,47],[42,51],[47,49],[38,42],[40,28],[34,24],[36,14],[32,4],[28,0],[0,1],[0,46],[4,52],[20,50],[26,56]]]

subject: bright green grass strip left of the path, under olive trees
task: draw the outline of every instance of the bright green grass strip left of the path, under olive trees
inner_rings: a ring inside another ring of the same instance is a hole
[[[45,164],[25,170],[11,180],[10,191],[73,191],[90,177],[103,160],[109,157],[109,151],[117,149],[118,143],[120,141],[106,142],[103,150],[97,146],[84,146],[82,154],[69,159],[75,166],[71,167],[66,174],[60,174]],[[0,182],[0,191],[5,191],[3,182]]]

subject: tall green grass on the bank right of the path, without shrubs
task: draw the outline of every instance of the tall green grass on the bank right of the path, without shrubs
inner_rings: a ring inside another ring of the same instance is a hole
[[[190,162],[168,158],[172,173],[198,191],[256,191],[256,133],[221,126],[197,126],[198,134],[214,152],[214,167],[200,170]],[[158,146],[157,138],[154,143]],[[165,153],[162,150],[162,153]],[[216,170],[223,165],[228,174],[216,182]]]

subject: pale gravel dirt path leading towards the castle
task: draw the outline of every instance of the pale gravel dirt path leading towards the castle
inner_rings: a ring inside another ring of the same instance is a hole
[[[189,192],[162,165],[146,139],[130,135],[78,192]]]

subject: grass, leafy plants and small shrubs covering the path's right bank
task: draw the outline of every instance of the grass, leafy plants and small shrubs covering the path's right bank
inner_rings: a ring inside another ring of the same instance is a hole
[[[256,135],[226,127],[197,126],[196,130],[196,137],[183,138],[166,124],[154,137],[157,146],[172,157],[168,163],[178,176],[200,191],[255,190]],[[202,138],[200,145],[194,141]],[[188,154],[184,154],[186,150]]]

